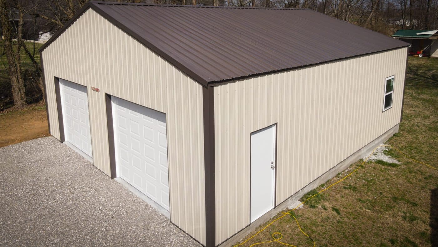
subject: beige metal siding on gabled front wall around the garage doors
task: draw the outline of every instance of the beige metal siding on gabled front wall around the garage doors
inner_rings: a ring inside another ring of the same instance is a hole
[[[205,243],[202,86],[91,9],[42,57],[51,133],[60,138],[53,77],[87,86],[93,161],[108,175],[105,93],[166,113],[170,217]]]

